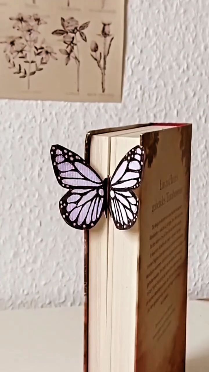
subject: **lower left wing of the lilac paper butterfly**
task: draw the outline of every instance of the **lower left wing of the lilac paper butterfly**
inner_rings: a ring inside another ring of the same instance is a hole
[[[64,221],[78,230],[94,227],[104,212],[104,197],[100,195],[100,190],[103,192],[103,187],[99,189],[69,190],[59,203],[60,213]],[[86,198],[86,200],[82,203],[83,198]],[[75,213],[74,217],[71,215],[73,212]],[[84,217],[81,221],[82,212]]]

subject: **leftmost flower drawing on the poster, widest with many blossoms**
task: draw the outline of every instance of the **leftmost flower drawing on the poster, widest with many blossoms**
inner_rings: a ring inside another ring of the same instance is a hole
[[[19,36],[8,36],[1,44],[5,44],[4,54],[8,67],[13,74],[20,78],[28,79],[30,89],[30,78],[42,71],[50,58],[57,60],[53,48],[46,44],[45,39],[39,42],[41,34],[39,27],[45,25],[46,21],[38,14],[23,15],[19,13],[16,17],[10,17]]]

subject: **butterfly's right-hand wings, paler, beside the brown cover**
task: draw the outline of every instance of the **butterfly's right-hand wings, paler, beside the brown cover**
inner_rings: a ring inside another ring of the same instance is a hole
[[[132,189],[141,184],[144,154],[142,146],[132,148],[122,158],[110,181],[109,209],[119,230],[131,228],[138,216],[139,199]]]

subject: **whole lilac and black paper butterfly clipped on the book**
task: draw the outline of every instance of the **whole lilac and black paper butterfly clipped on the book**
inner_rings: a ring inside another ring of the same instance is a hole
[[[60,200],[65,222],[76,229],[94,227],[107,209],[119,230],[131,228],[138,216],[139,200],[132,189],[139,187],[144,168],[144,148],[135,146],[120,161],[112,178],[102,180],[79,155],[60,145],[51,147],[58,183],[69,189]]]

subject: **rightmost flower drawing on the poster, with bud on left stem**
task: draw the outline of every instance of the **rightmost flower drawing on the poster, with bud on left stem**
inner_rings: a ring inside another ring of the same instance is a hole
[[[97,62],[97,66],[99,67],[102,75],[102,93],[105,93],[105,80],[106,80],[106,67],[107,67],[107,57],[110,53],[110,48],[112,45],[112,41],[114,36],[110,33],[110,25],[111,23],[102,23],[102,32],[99,34],[103,38],[103,51],[99,51],[99,45],[96,41],[91,41],[90,49],[91,49],[91,57],[94,61]]]

